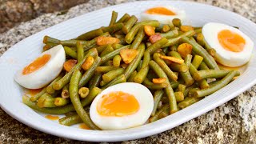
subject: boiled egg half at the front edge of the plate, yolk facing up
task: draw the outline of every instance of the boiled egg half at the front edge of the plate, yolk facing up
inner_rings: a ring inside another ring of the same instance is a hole
[[[121,130],[142,126],[153,110],[150,90],[138,83],[110,86],[90,105],[90,118],[102,130]]]

